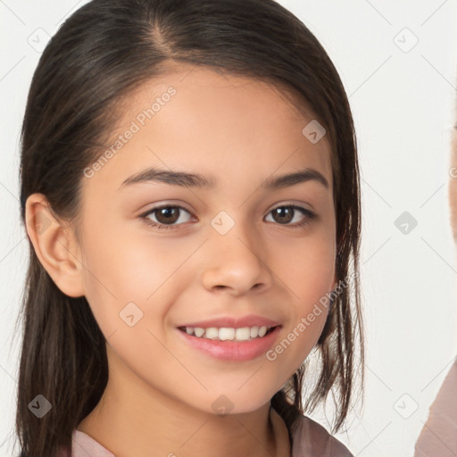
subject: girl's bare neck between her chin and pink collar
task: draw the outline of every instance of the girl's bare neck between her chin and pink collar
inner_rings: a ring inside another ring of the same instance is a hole
[[[119,367],[111,369],[104,395],[78,429],[116,457],[150,457],[151,450],[179,457],[290,455],[287,426],[270,403],[220,416],[184,405],[141,380],[126,382]]]

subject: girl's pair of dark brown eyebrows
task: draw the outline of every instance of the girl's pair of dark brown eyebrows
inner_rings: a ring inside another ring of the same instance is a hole
[[[329,188],[328,180],[318,170],[305,168],[285,175],[273,176],[265,179],[261,187],[266,190],[277,190],[284,187],[295,186],[307,181],[316,181],[323,187]],[[125,179],[121,187],[128,187],[137,183],[162,182],[171,186],[199,187],[202,189],[212,189],[216,186],[216,179],[205,177],[197,173],[187,173],[184,171],[163,170],[151,167],[140,171],[128,179]]]

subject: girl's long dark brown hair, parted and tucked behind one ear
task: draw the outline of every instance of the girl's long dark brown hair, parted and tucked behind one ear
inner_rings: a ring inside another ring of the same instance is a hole
[[[363,386],[358,282],[360,185],[353,118],[345,89],[319,41],[273,0],[94,0],[62,24],[46,46],[29,89],[21,131],[21,220],[29,195],[42,193],[59,219],[74,223],[83,170],[95,162],[120,119],[122,97],[166,73],[170,62],[251,77],[287,89],[327,130],[337,219],[337,278],[317,345],[317,382],[303,405],[308,361],[271,399],[291,428],[328,398],[334,430]],[[76,227],[76,224],[75,224]],[[94,409],[108,379],[105,339],[86,298],[64,295],[29,240],[20,317],[23,342],[16,433],[22,457],[54,457]],[[356,355],[356,353],[359,355]],[[38,419],[29,403],[44,395],[52,409]]]

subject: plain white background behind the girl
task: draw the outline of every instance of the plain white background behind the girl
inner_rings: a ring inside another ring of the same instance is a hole
[[[84,3],[0,0],[2,457],[13,453],[21,340],[13,335],[13,324],[28,259],[19,216],[18,140],[39,58],[29,42],[37,33],[46,39],[37,29],[54,35]],[[357,456],[411,456],[428,407],[457,355],[457,265],[447,198],[457,0],[279,3],[312,30],[335,63],[359,143],[367,378],[363,409],[353,412],[347,432],[337,437]],[[403,212],[418,222],[407,234],[395,226]],[[313,417],[327,425],[322,411]]]

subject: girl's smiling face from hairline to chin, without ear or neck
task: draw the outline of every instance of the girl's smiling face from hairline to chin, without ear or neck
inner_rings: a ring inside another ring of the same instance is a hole
[[[278,88],[190,70],[130,96],[112,154],[85,171],[84,295],[132,389],[211,413],[217,401],[254,411],[306,359],[327,318],[313,309],[336,283],[330,146],[303,135],[312,117]],[[204,179],[153,179],[151,168]],[[276,328],[250,342],[180,329],[248,327],[250,337],[262,319]]]

